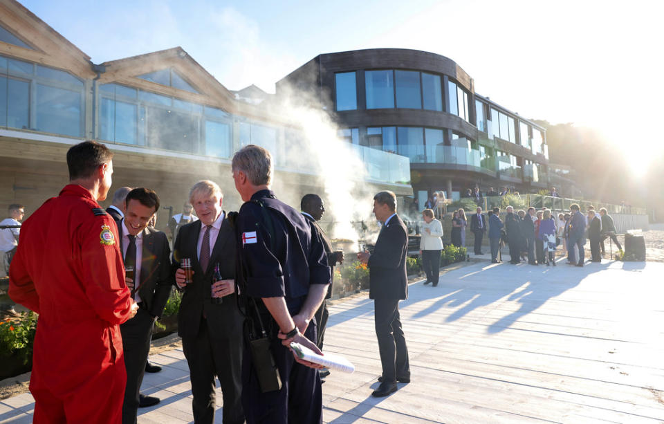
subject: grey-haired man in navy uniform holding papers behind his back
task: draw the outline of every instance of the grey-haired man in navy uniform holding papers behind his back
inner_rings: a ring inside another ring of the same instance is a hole
[[[313,316],[331,281],[323,243],[311,234],[304,216],[270,190],[274,165],[269,151],[247,145],[234,154],[231,166],[235,189],[245,202],[235,230],[238,286],[246,311],[242,403],[247,423],[321,423],[322,367],[297,358],[290,346],[295,342],[322,353],[315,344]],[[269,346],[260,349],[263,342]],[[270,371],[259,380],[257,369],[275,366],[279,377]]]

